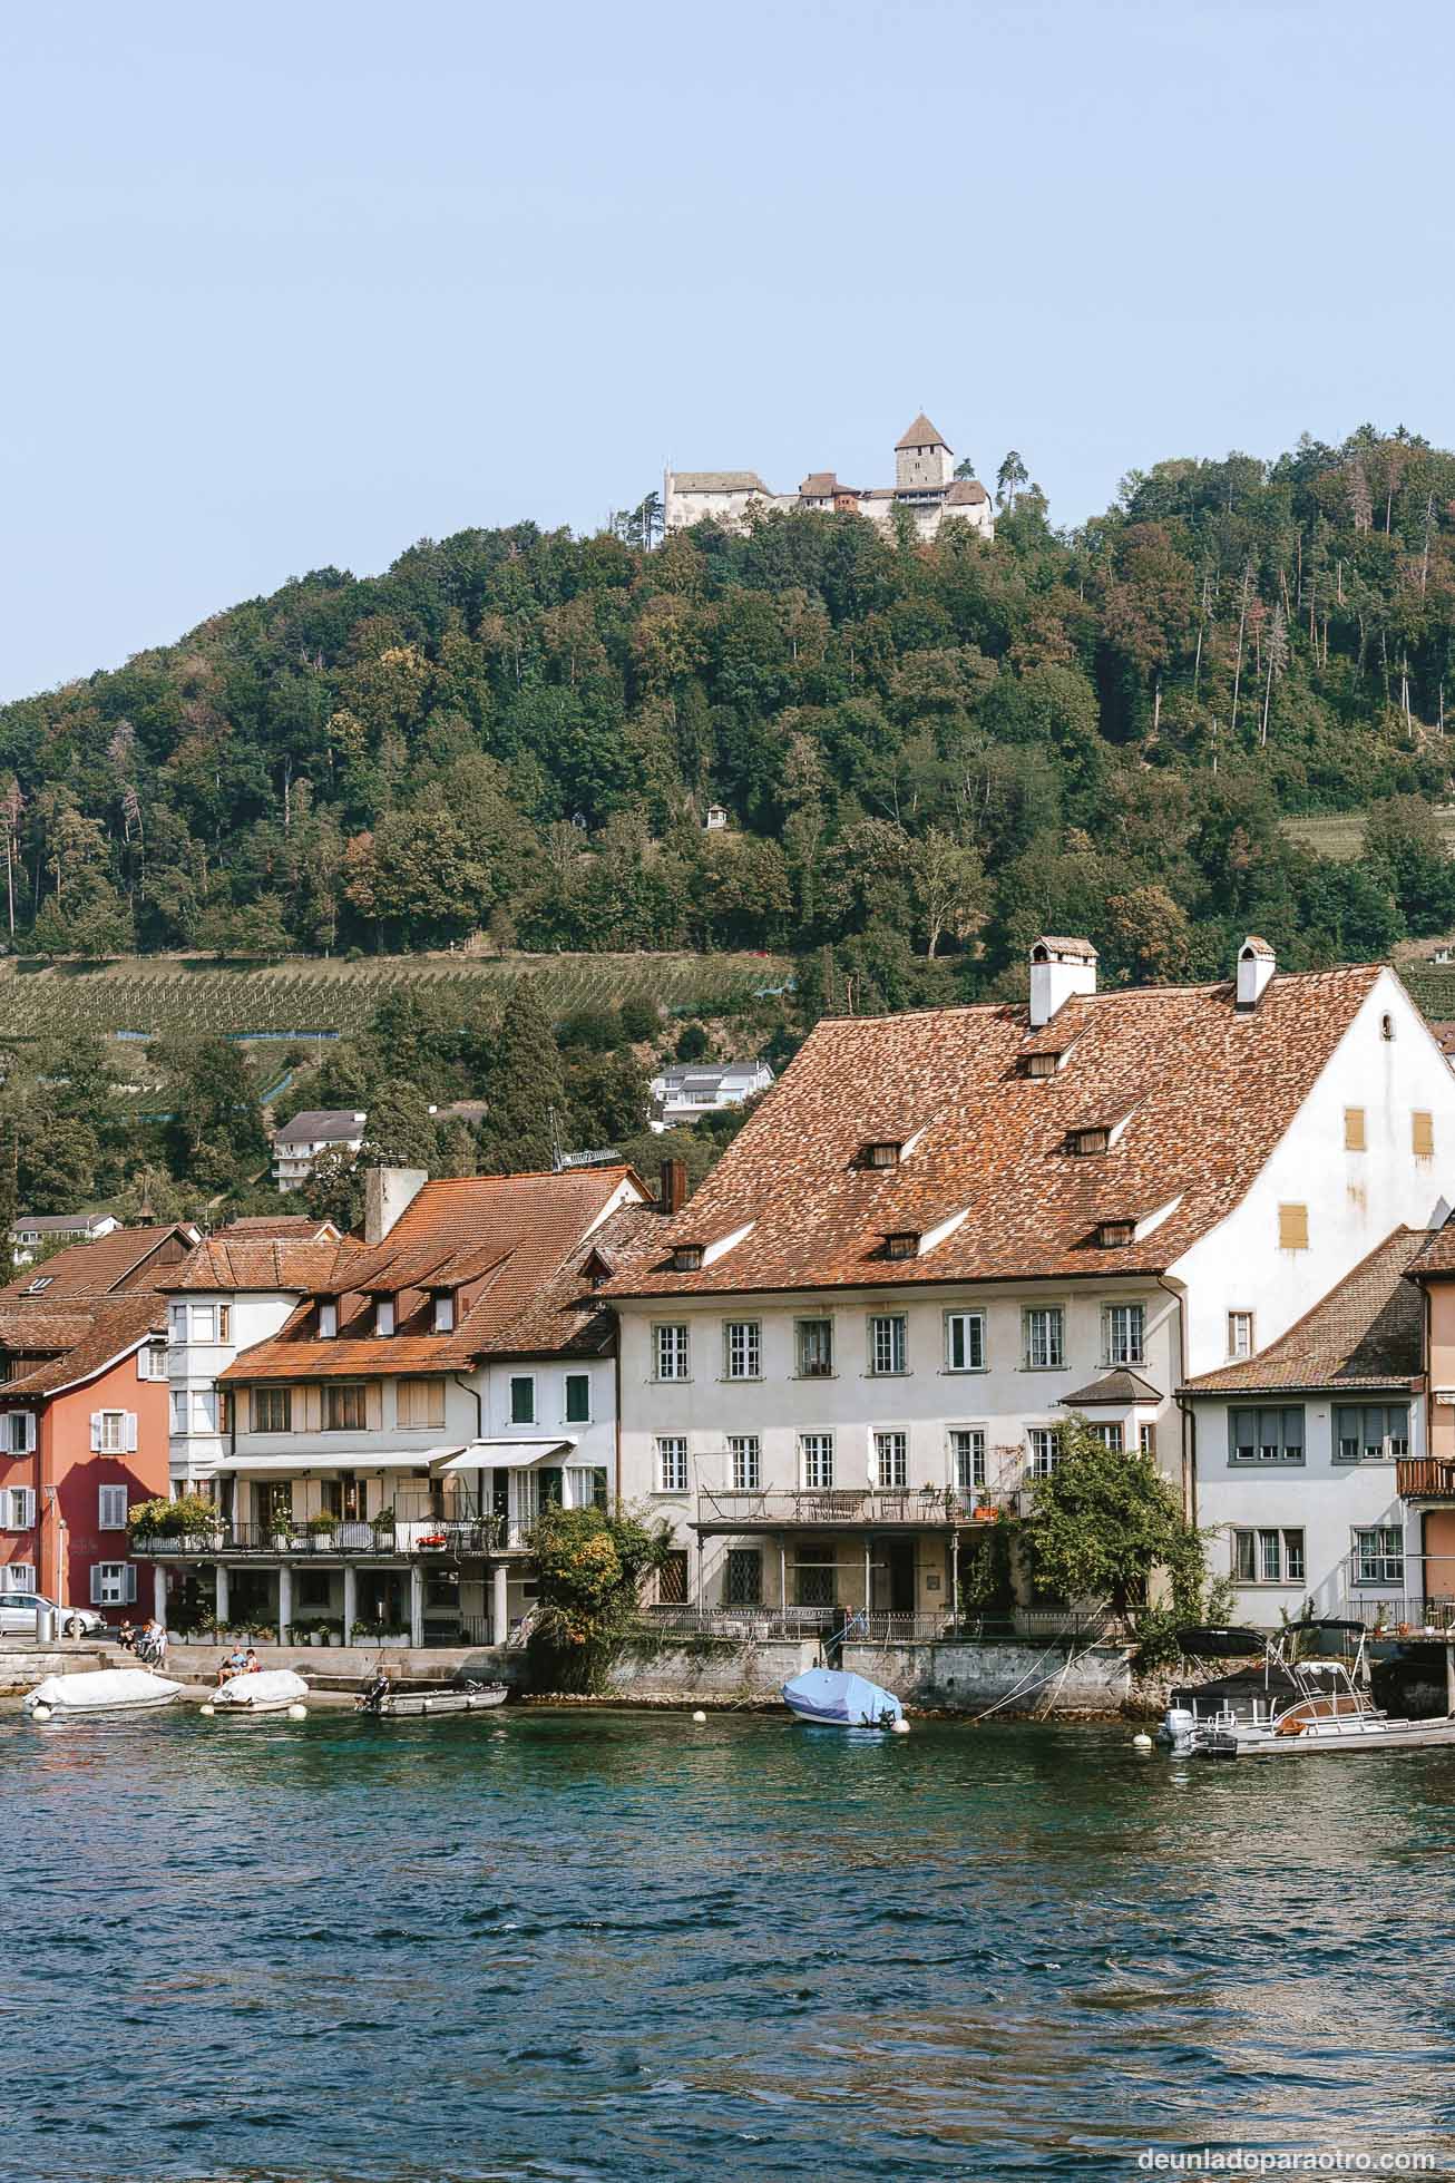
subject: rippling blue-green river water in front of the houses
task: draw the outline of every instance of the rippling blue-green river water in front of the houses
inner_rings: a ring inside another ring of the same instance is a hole
[[[0,1799],[7,2183],[1451,2172],[1448,1753],[7,1714]]]

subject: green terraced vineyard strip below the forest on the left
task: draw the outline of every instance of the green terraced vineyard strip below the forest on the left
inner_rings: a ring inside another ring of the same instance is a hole
[[[539,978],[556,1015],[589,1004],[654,1000],[670,1013],[729,1011],[792,976],[759,954],[380,956],[366,963],[284,961],[218,967],[214,961],[137,956],[120,963],[0,963],[0,1039],[70,1033],[231,1039],[340,1037],[362,1030],[404,987],[495,1000],[517,978]]]

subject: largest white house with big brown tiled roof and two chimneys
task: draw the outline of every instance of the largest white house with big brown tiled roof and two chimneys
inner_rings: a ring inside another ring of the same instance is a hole
[[[609,1284],[624,1487],[689,1600],[945,1613],[1071,1412],[1191,1508],[1178,1388],[1444,1220],[1455,1078],[1394,971],[1095,971],[1041,939],[1030,1006],[820,1022]]]

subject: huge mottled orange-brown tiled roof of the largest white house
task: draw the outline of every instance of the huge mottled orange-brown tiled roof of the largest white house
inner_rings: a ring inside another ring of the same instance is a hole
[[[668,1246],[748,1233],[696,1273],[674,1273],[663,1251],[609,1292],[1158,1273],[1239,1203],[1379,976],[1278,976],[1243,1013],[1230,982],[1069,1002],[1078,1037],[1047,1078],[1023,1074],[1045,1037],[1021,1006],[827,1019],[668,1222]],[[1089,1113],[1132,1102],[1108,1153],[1067,1150]],[[864,1166],[868,1142],[916,1131],[901,1166]],[[890,1231],[923,1236],[960,1214],[923,1257],[886,1260]],[[1152,1214],[1163,1218],[1141,1240],[1097,1242],[1102,1220]]]

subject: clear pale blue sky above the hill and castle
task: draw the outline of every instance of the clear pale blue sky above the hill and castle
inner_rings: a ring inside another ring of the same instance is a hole
[[[0,696],[683,469],[1058,522],[1455,439],[1444,0],[70,0],[0,24]]]

